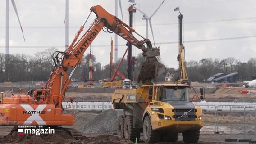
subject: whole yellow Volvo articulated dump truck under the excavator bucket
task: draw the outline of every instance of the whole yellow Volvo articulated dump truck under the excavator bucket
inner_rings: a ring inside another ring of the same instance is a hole
[[[135,142],[142,132],[145,143],[157,143],[176,142],[182,133],[185,143],[197,143],[204,121],[201,108],[189,102],[188,87],[155,84],[115,90],[114,109],[123,109],[118,117],[118,136]]]

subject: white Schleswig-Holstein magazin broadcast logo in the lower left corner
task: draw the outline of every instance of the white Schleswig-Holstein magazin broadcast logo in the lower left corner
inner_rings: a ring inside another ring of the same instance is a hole
[[[43,128],[43,126],[18,126],[18,135],[24,134],[54,134],[55,129],[53,128]]]

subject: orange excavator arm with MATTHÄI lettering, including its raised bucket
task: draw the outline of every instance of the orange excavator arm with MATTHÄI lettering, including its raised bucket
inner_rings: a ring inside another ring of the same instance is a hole
[[[142,80],[142,84],[148,83],[151,81],[151,79],[155,78],[155,76],[161,74],[165,70],[165,66],[158,63],[157,59],[155,58],[155,56],[160,55],[160,49],[153,48],[149,39],[143,38],[143,40],[137,40],[133,34],[129,32],[130,30],[133,33],[136,33],[132,27],[129,27],[126,23],[123,23],[123,21],[116,18],[114,15],[109,14],[99,5],[91,7],[91,12],[94,12],[97,18],[93,23],[91,23],[89,29],[77,41],[79,35],[83,31],[85,23],[80,27],[80,30],[75,36],[72,44],[68,49],[66,49],[65,52],[55,52],[55,57],[53,57],[55,68],[51,73],[50,78],[46,82],[43,90],[39,90],[40,94],[56,94],[53,97],[46,97],[47,101],[54,103],[56,107],[60,107],[65,90],[71,82],[73,71],[77,65],[82,62],[84,52],[87,50],[89,45],[91,45],[92,41],[96,38],[103,27],[106,27],[108,32],[113,31],[143,51],[143,56],[146,57],[147,60],[146,62],[142,63],[142,72],[138,78],[138,81]],[[146,44],[147,47],[145,47],[144,44]],[[67,71],[72,67],[73,70],[69,75]],[[37,91],[34,93],[34,96],[36,95]]]

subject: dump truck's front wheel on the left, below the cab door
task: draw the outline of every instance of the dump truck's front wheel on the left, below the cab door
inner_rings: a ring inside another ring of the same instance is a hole
[[[143,138],[145,143],[157,143],[160,140],[160,133],[152,130],[149,116],[143,121]]]

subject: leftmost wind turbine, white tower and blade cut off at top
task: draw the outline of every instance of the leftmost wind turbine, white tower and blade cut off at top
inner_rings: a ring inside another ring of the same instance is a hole
[[[18,23],[19,23],[19,26],[21,28],[23,39],[25,41],[25,37],[24,37],[23,30],[22,30],[22,27],[21,27],[21,23],[20,23],[20,20],[19,20],[19,17],[18,17],[18,11],[17,11],[16,5],[15,5],[15,2],[14,2],[14,0],[11,0],[11,2],[12,2],[12,5],[14,7],[14,11],[16,13],[16,16],[18,18]],[[9,0],[6,0],[5,54],[9,54]]]

